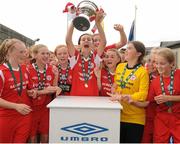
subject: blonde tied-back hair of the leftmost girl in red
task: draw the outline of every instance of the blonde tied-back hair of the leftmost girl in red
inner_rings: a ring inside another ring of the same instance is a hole
[[[0,64],[3,64],[4,62],[8,62],[8,58],[7,58],[8,51],[13,50],[15,43],[23,43],[23,42],[18,39],[12,38],[12,39],[5,39],[1,43],[1,45],[0,45]]]

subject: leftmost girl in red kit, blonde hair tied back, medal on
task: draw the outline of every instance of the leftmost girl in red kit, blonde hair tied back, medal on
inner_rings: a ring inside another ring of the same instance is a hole
[[[0,143],[25,143],[30,133],[29,78],[21,65],[25,59],[22,41],[6,39],[0,45]]]

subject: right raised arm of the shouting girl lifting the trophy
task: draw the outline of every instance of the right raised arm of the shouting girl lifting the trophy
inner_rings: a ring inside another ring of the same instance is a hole
[[[100,36],[100,39],[101,39],[100,44],[99,44],[99,46],[97,48],[97,53],[98,53],[99,56],[101,56],[103,54],[105,46],[106,46],[106,36],[105,36],[104,30],[103,30],[102,25],[101,25],[102,18],[103,18],[103,12],[98,11],[96,13],[95,23],[96,23],[96,26],[97,26],[97,29],[98,29],[98,32],[99,32],[99,36]]]

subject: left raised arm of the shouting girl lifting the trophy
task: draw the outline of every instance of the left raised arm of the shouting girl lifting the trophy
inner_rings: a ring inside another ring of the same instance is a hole
[[[67,34],[66,34],[66,45],[67,45],[68,53],[70,56],[74,56],[75,50],[76,50],[74,47],[74,44],[72,42],[73,31],[74,31],[74,26],[73,26],[73,23],[71,22],[71,24],[67,30]]]

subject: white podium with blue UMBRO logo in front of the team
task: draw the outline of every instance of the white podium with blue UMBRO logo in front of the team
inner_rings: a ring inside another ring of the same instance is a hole
[[[50,143],[119,143],[119,102],[109,97],[60,96],[50,108]]]

